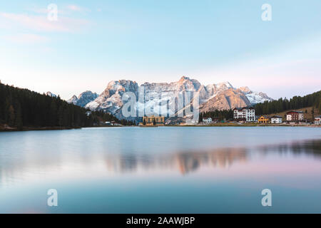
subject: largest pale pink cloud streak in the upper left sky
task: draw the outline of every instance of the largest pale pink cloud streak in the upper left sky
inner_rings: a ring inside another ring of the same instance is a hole
[[[49,21],[45,15],[34,16],[4,12],[0,12],[0,20],[3,23],[11,24],[11,26],[23,26],[34,31],[45,32],[73,32],[89,24],[86,19],[72,19],[66,16],[58,16],[58,21]]]

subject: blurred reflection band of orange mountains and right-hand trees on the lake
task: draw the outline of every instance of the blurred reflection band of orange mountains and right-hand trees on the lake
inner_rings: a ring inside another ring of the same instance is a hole
[[[186,151],[164,153],[163,155],[114,155],[106,157],[108,170],[114,172],[133,172],[136,170],[175,169],[183,175],[200,167],[230,167],[235,162],[246,163],[253,153],[291,153],[291,155],[312,155],[321,158],[321,140],[305,140],[280,145],[259,147],[219,148],[209,151]]]

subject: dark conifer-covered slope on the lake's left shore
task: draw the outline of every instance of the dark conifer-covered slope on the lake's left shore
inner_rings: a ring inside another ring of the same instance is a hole
[[[99,125],[100,121],[115,121],[123,125],[131,122],[118,120],[102,111],[86,115],[85,108],[22,88],[0,83],[0,124],[21,130],[23,127],[80,128]]]

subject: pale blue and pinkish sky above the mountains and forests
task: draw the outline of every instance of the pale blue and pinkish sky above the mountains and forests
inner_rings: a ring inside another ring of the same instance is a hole
[[[180,76],[290,97],[320,90],[320,74],[320,0],[0,2],[0,80],[62,98]]]

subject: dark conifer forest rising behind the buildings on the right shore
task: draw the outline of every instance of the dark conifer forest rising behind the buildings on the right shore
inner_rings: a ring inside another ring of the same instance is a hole
[[[255,115],[266,115],[280,113],[285,110],[295,110],[300,108],[314,107],[321,113],[321,90],[309,95],[294,96],[290,100],[280,98],[278,100],[265,101],[254,106]]]

